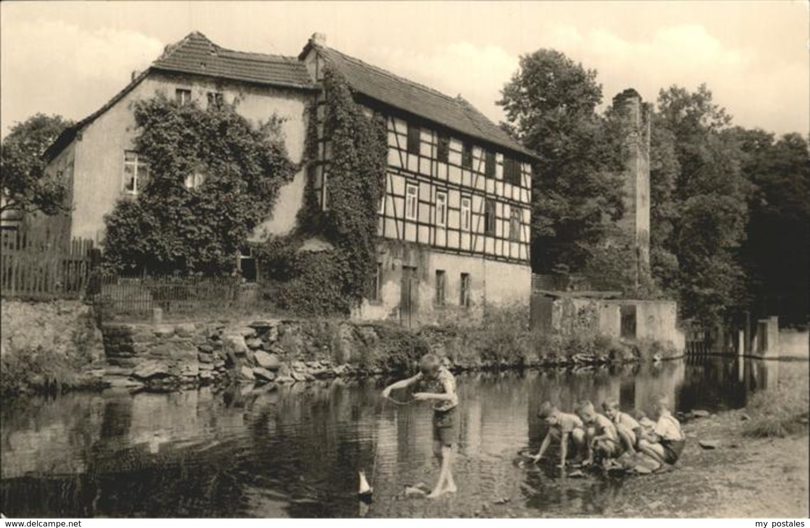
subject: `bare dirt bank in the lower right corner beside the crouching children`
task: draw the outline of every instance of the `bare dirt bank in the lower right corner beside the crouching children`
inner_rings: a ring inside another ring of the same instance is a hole
[[[606,517],[808,517],[808,434],[744,437],[744,412],[684,425],[689,441],[675,471],[625,482]],[[699,440],[719,441],[704,450]]]

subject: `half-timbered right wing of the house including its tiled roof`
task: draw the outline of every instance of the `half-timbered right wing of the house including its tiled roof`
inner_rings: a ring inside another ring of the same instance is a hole
[[[387,123],[377,277],[356,315],[418,325],[474,318],[486,303],[527,304],[534,156],[461,97],[326,48],[318,35],[300,58],[316,82],[327,65],[338,70]],[[326,209],[331,146],[317,129],[311,175]]]

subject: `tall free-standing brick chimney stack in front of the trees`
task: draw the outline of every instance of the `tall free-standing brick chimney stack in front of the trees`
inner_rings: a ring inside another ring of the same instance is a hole
[[[636,277],[650,273],[650,103],[628,88],[613,98],[628,147],[625,164],[625,216],[620,228],[634,241]]]

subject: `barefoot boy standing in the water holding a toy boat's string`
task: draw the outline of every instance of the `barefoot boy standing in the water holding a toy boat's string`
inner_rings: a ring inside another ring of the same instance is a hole
[[[382,397],[388,398],[391,391],[416,385],[421,392],[413,395],[417,401],[433,400],[433,454],[441,459],[441,471],[433,492],[428,497],[435,498],[444,493],[456,491],[453,473],[453,444],[458,435],[456,429],[456,395],[455,378],[450,370],[441,365],[435,354],[425,354],[420,360],[420,372],[411,378],[392,383],[382,391]]]

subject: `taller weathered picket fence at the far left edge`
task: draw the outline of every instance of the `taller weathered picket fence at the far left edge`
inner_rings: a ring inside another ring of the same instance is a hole
[[[90,277],[89,239],[61,234],[2,230],[0,291],[4,298],[81,298]]]

